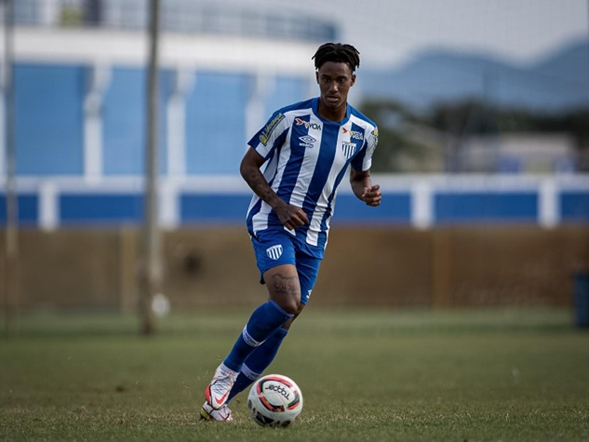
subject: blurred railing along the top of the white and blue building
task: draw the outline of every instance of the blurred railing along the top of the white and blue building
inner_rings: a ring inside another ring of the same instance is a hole
[[[40,27],[104,27],[138,30],[147,26],[147,0],[18,0],[18,25]],[[163,0],[161,28],[168,32],[207,33],[333,41],[334,24],[297,11],[247,5],[218,6],[191,0]]]

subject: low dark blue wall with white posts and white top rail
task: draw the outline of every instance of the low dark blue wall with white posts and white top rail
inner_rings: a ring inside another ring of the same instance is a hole
[[[373,209],[342,184],[334,223],[362,226],[541,226],[589,224],[587,175],[378,175],[383,202]],[[138,225],[143,217],[143,179],[137,176],[21,177],[22,225],[59,227]],[[4,181],[0,177],[0,189]],[[244,225],[252,191],[239,176],[166,176],[159,189],[160,222]],[[0,225],[4,222],[0,190]]]

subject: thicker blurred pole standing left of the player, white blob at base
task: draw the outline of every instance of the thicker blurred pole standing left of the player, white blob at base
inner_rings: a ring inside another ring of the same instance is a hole
[[[154,329],[153,297],[161,286],[160,235],[157,219],[157,65],[159,38],[159,0],[150,0],[150,52],[147,77],[147,126],[145,146],[145,214],[143,227],[144,258],[141,272],[141,333]]]

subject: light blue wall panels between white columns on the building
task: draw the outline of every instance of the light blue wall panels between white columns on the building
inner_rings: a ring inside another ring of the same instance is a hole
[[[15,137],[20,176],[82,176],[84,98],[90,67],[19,63],[15,65]],[[160,72],[160,103],[173,91],[173,72]],[[234,174],[247,140],[244,110],[253,88],[248,74],[194,72],[186,98],[186,173]],[[105,176],[144,171],[145,82],[142,68],[114,66],[105,91],[102,164]],[[265,103],[267,117],[278,107],[307,98],[307,81],[277,77]],[[167,170],[166,107],[159,113],[160,173]]]

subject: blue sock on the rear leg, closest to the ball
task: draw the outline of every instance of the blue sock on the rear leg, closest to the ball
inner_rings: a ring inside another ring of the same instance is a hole
[[[259,378],[264,370],[272,363],[274,357],[278,352],[282,340],[286,337],[289,331],[286,328],[280,327],[274,334],[264,341],[264,344],[256,348],[250,354],[241,367],[241,372],[237,376],[233,388],[227,397],[227,403],[241,391],[249,387],[253,381]]]

